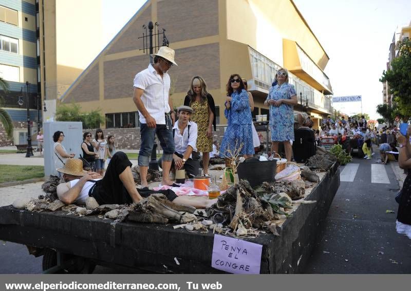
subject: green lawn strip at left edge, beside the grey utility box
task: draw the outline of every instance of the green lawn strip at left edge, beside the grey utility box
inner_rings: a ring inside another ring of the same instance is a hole
[[[43,166],[0,165],[0,183],[44,177]]]

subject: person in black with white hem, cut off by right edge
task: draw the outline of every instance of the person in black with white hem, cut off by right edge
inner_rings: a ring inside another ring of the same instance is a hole
[[[411,144],[409,143],[409,134],[409,127],[406,137],[397,133],[397,141],[400,145],[398,165],[402,169],[408,169],[408,175],[401,189],[396,228],[398,233],[405,234],[411,239],[411,171],[409,171],[411,169]]]

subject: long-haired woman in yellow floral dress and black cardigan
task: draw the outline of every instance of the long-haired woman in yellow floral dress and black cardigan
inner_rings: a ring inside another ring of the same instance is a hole
[[[207,92],[204,80],[195,76],[191,79],[189,92],[184,99],[184,105],[193,108],[191,121],[197,123],[197,151],[202,153],[204,174],[208,175],[210,152],[213,151],[213,125],[215,124],[215,105],[211,94]]]

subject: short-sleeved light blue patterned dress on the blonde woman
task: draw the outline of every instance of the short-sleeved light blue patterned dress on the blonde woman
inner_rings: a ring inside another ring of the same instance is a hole
[[[294,85],[283,83],[270,88],[267,100],[291,99],[296,95]],[[294,140],[294,111],[293,106],[281,103],[279,107],[270,105],[271,140]]]

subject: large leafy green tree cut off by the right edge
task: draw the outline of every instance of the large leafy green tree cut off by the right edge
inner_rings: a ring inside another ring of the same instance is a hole
[[[380,82],[387,82],[403,119],[411,116],[411,41],[400,44],[400,56],[391,62],[392,69],[383,71]]]

